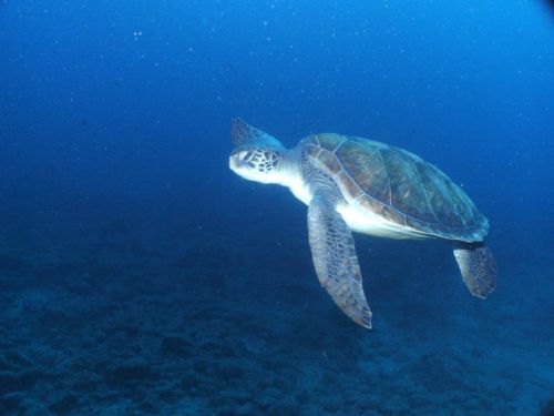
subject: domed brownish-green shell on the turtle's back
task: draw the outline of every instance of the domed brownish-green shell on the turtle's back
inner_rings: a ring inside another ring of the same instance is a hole
[[[465,192],[413,153],[334,133],[310,135],[304,145],[345,200],[362,211],[429,236],[474,242],[489,231]]]

